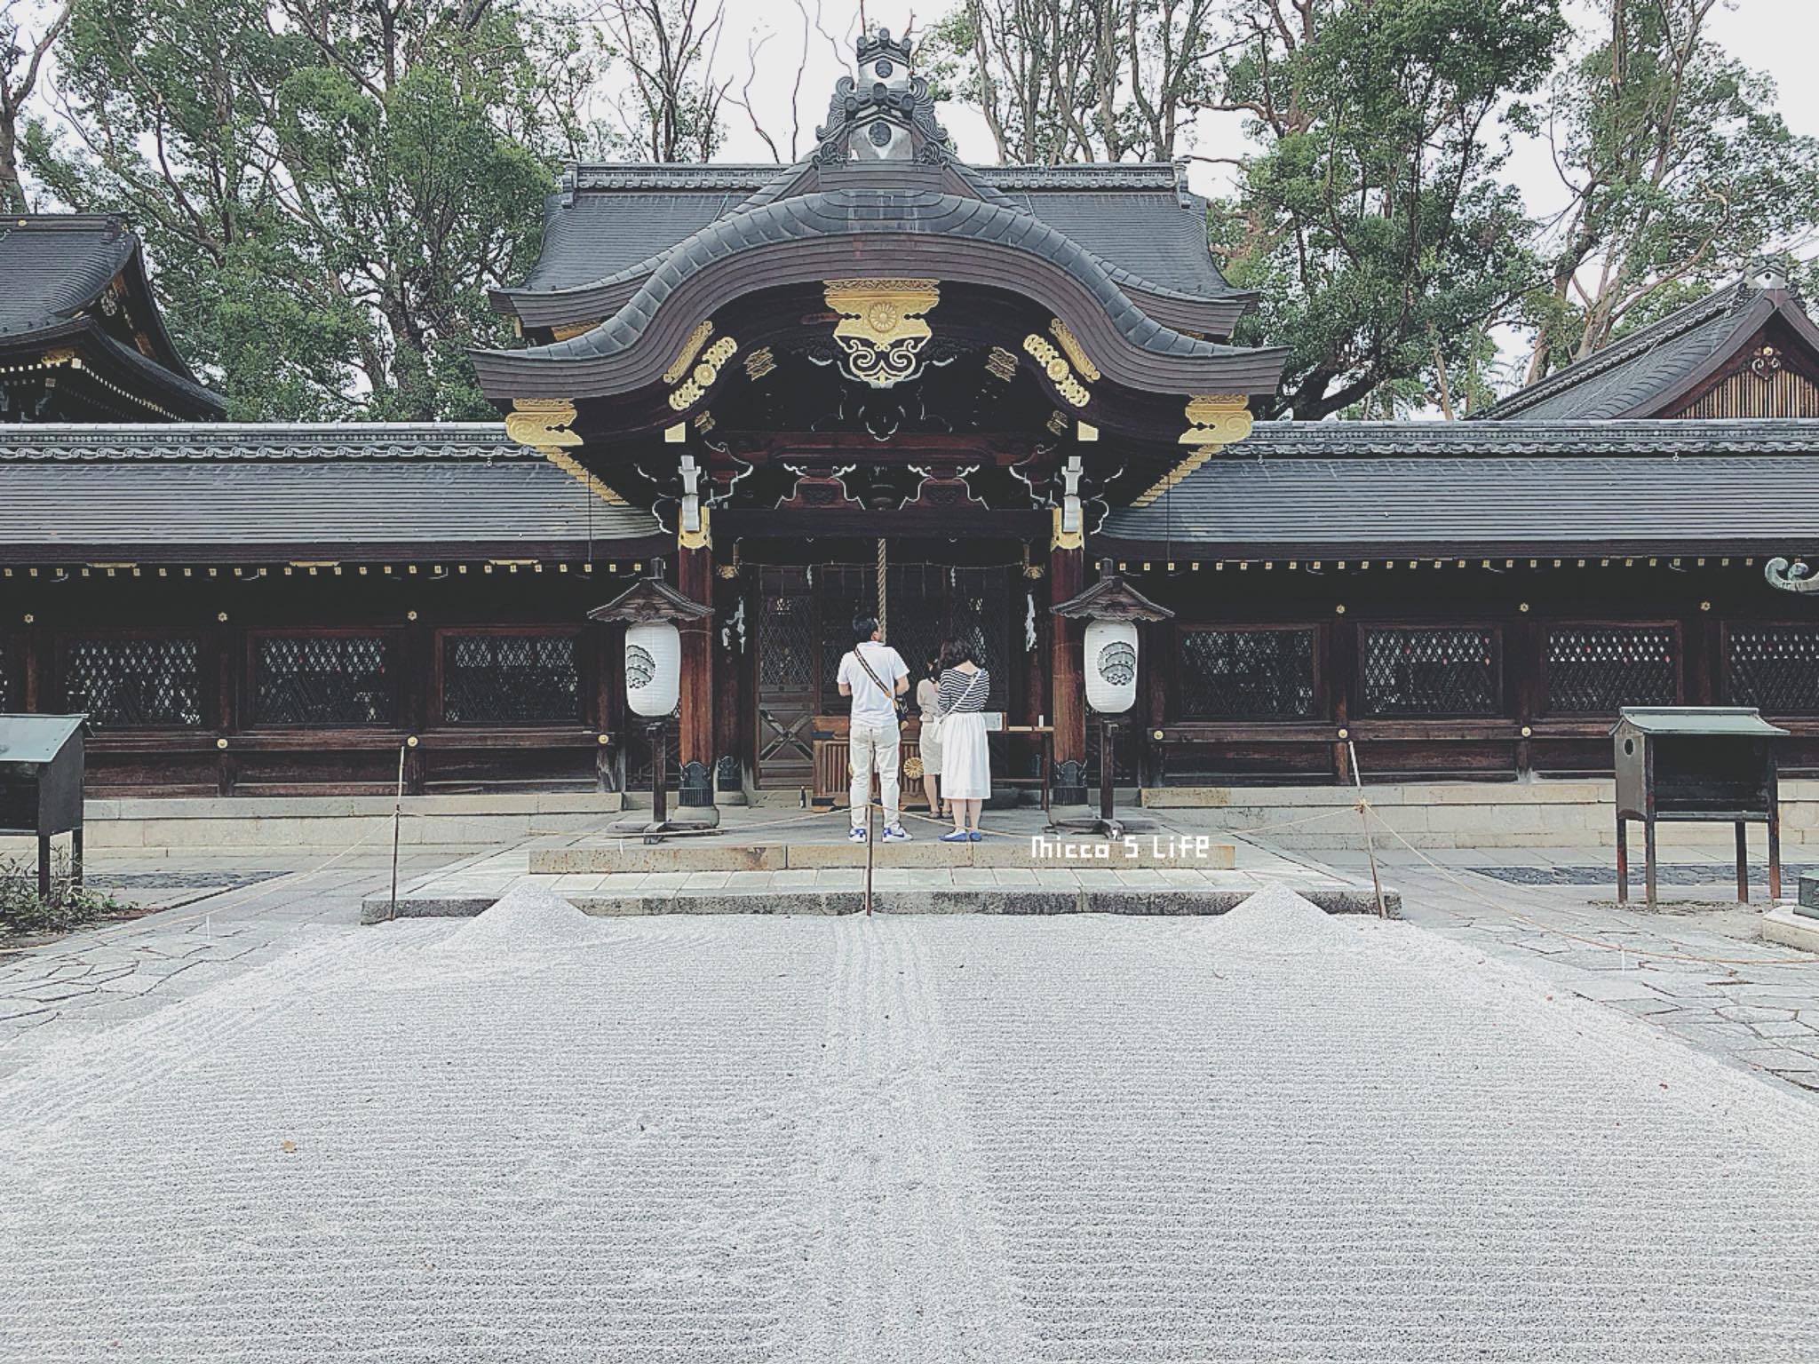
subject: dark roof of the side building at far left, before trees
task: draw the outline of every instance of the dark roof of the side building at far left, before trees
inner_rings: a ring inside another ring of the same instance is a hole
[[[53,418],[226,413],[164,327],[138,236],[109,213],[0,218],[0,380],[55,398],[38,398]]]

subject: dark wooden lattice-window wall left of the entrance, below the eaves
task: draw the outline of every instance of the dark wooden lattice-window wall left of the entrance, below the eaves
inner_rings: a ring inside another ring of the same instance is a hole
[[[0,597],[0,709],[64,711],[71,691],[102,704],[82,687],[102,649],[153,720],[96,724],[95,797],[386,793],[400,751],[411,793],[613,786],[620,649],[586,611],[629,580],[478,564],[266,577],[13,569]],[[267,655],[296,649],[309,649],[311,667],[278,695]],[[528,700],[513,689],[528,673],[511,660],[551,666],[562,684]],[[324,709],[337,722],[296,718]]]

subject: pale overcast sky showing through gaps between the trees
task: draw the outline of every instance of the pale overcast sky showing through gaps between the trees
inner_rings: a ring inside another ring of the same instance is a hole
[[[813,15],[815,0],[808,0],[808,5]],[[913,0],[866,0],[866,18],[900,35],[911,18],[919,25],[926,25],[950,7],[950,0],[920,0],[920,4]],[[808,69],[799,98],[802,129],[795,147],[797,155],[809,149],[815,124],[826,116],[833,82],[849,65],[849,35],[857,27],[855,11],[857,4],[848,0],[820,0],[822,27],[840,38],[839,56],[828,38],[815,31],[809,33]],[[1577,7],[1575,13],[1583,22],[1590,22],[1588,7]],[[751,105],[779,142],[782,158],[789,160],[788,109],[802,55],[799,13],[789,0],[726,0],[726,18],[728,25],[720,45],[722,71],[744,73],[748,47],[762,44],[751,85]],[[1814,69],[1814,56],[1819,53],[1819,0],[1732,0],[1728,9],[1713,15],[1712,33],[1739,60],[1774,76],[1779,87],[1781,113],[1794,131],[1819,136],[1819,73]],[[740,93],[742,82],[740,75],[735,80],[735,95]],[[751,129],[746,113],[740,109],[726,113],[729,138],[719,160],[771,160],[769,149]],[[946,105],[942,120],[953,133],[962,158],[995,160],[991,135],[975,113]],[[1190,155],[1233,156],[1246,149],[1235,115],[1201,120],[1190,138]],[[1201,193],[1215,193],[1224,175],[1224,167],[1217,165],[1190,167],[1190,180]],[[1559,206],[1563,195],[1544,145],[1517,145],[1510,175],[1523,187],[1532,211],[1544,213]],[[1812,249],[1806,247],[1801,255],[1810,255]]]

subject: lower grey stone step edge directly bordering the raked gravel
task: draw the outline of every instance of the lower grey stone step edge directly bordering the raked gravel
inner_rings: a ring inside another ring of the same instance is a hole
[[[1299,895],[1332,915],[1373,915],[1377,900],[1370,889],[1295,888]],[[1233,889],[1137,889],[1121,886],[1046,889],[1022,886],[889,889],[871,897],[880,915],[1133,915],[1188,917],[1222,915],[1257,893],[1255,886]],[[404,895],[398,918],[473,918],[498,902],[498,895]],[[629,891],[626,895],[573,893],[569,904],[588,915],[857,915],[864,895],[853,891]],[[1392,918],[1402,913],[1402,897],[1384,891]],[[382,924],[391,918],[391,900],[384,895],[362,904],[360,922]]]

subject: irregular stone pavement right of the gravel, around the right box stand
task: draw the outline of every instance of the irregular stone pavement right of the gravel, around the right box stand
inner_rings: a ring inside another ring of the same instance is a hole
[[[1302,855],[1366,878],[1361,851]],[[1761,937],[1766,893],[1734,904],[1728,849],[1683,849],[1663,900],[1615,904],[1608,847],[1379,851],[1402,918],[1661,1028],[1734,1066],[1819,1093],[1819,955]],[[1755,869],[1759,871],[1759,868]],[[1794,893],[1784,873],[1783,889]],[[1639,878],[1639,873],[1637,873]],[[1523,884],[1535,882],[1535,884]],[[1635,888],[1639,895],[1639,888]]]

